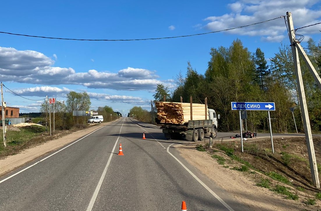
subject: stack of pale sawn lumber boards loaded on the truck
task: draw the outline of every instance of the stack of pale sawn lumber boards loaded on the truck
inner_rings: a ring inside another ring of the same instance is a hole
[[[156,102],[157,118],[160,123],[185,124],[191,120],[190,103]],[[193,103],[193,120],[205,119],[205,105]],[[207,108],[206,108],[207,114]]]

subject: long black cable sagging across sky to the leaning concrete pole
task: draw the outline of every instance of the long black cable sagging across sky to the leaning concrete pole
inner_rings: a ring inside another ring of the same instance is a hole
[[[11,32],[4,32],[0,31],[2,34],[9,34],[9,35],[17,35],[17,36],[24,36],[24,37],[33,37],[33,38],[46,38],[46,39],[61,39],[61,40],[77,40],[77,41],[140,41],[140,40],[156,40],[156,39],[171,39],[171,38],[183,38],[183,37],[192,37],[192,36],[198,36],[198,35],[205,35],[205,34],[212,34],[212,33],[217,33],[217,32],[222,32],[222,31],[229,31],[233,29],[240,29],[248,26],[253,26],[256,24],[268,22],[268,21],[273,21],[278,18],[284,18],[285,16],[269,19],[266,21],[261,21],[257,23],[252,23],[248,24],[245,26],[239,26],[239,27],[234,27],[230,29],[224,29],[224,30],[219,30],[219,31],[211,31],[211,32],[205,32],[205,33],[199,33],[199,34],[191,34],[191,35],[182,35],[182,36],[176,36],[176,37],[162,37],[162,38],[142,38],[142,39],[76,39],[76,38],[57,38],[57,37],[45,37],[45,36],[36,36],[36,35],[26,35],[26,34],[16,34],[16,33],[11,33]]]

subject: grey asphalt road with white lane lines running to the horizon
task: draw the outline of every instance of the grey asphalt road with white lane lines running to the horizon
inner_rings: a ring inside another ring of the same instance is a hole
[[[187,210],[248,210],[185,162],[178,142],[119,118],[0,178],[0,210],[181,210],[183,200]]]

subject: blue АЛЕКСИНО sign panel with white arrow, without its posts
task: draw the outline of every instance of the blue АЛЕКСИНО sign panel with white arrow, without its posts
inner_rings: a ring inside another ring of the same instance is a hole
[[[231,102],[232,110],[275,111],[274,103]]]

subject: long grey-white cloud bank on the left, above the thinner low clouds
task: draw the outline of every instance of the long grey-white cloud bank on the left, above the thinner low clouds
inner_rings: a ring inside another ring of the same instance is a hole
[[[82,85],[94,89],[155,90],[156,71],[127,67],[118,72],[76,72],[73,68],[52,66],[54,61],[36,51],[0,47],[0,77],[3,81],[39,85]],[[172,87],[167,82],[168,87]],[[43,90],[39,90],[43,91]]]

